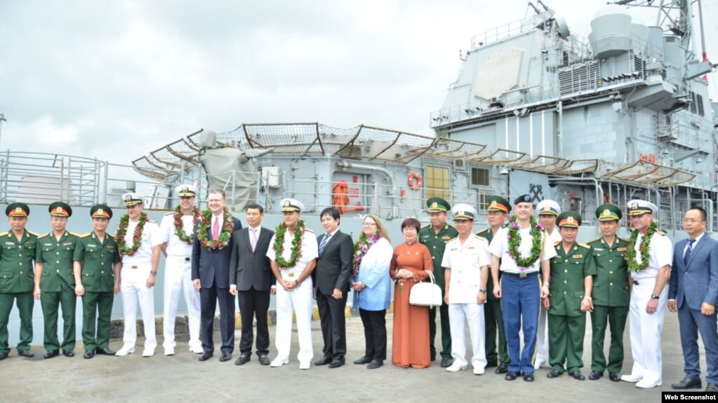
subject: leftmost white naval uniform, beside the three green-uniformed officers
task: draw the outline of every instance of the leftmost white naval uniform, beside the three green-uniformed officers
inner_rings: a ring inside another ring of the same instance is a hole
[[[127,234],[125,234],[125,247],[132,246],[132,237],[137,222],[127,223]],[[137,301],[142,313],[144,323],[144,348],[154,351],[157,347],[157,333],[154,328],[154,286],[147,287],[147,278],[152,270],[152,248],[162,244],[162,237],[159,235],[159,227],[156,222],[149,219],[144,223],[142,239],[139,248],[134,255],[122,257],[121,291],[122,304],[125,321],[125,333],[123,335],[123,347],[134,348],[137,340],[137,328],[134,326],[137,316]]]

